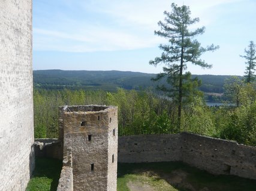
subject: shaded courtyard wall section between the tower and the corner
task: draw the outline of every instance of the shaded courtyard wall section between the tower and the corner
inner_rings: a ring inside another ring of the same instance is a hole
[[[181,161],[180,134],[119,137],[118,162]]]

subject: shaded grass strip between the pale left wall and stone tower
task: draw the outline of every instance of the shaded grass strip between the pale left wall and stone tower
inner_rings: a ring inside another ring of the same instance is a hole
[[[35,171],[26,191],[56,191],[61,175],[62,161],[36,158]]]

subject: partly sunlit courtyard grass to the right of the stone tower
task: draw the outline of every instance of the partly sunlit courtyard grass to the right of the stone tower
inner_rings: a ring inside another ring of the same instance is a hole
[[[146,178],[145,178],[146,177]],[[256,180],[233,175],[212,175],[182,162],[118,165],[118,191],[129,191],[129,182],[140,182],[160,190],[255,191]]]

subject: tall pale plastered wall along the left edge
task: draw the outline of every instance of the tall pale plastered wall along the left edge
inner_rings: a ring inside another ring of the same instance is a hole
[[[34,169],[31,12],[0,1],[0,190],[25,190]]]

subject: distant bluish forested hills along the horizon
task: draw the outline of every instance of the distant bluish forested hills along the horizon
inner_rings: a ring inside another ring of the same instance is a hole
[[[115,91],[117,87],[127,90],[156,87],[165,84],[164,80],[153,82],[152,73],[88,70],[34,70],[34,86],[46,90],[85,89]],[[192,75],[202,81],[201,91],[222,93],[226,78],[221,75]]]

